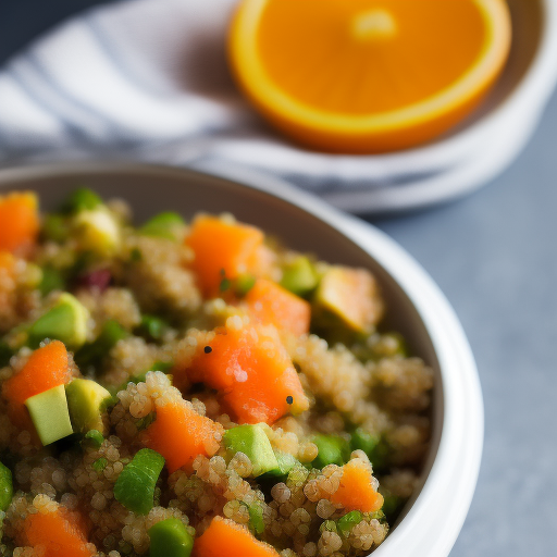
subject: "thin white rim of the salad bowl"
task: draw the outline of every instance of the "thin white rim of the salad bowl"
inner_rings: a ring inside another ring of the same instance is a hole
[[[72,162],[0,170],[0,193],[17,183],[45,177],[143,173],[191,178],[180,168],[115,162]],[[441,440],[430,473],[404,519],[373,552],[377,557],[447,557],[462,527],[478,480],[483,446],[483,400],[478,370],[465,332],[440,288],[398,244],[371,224],[257,171],[226,168],[206,175],[226,180],[285,201],[344,235],[398,284],[418,311],[436,354],[443,394]]]

